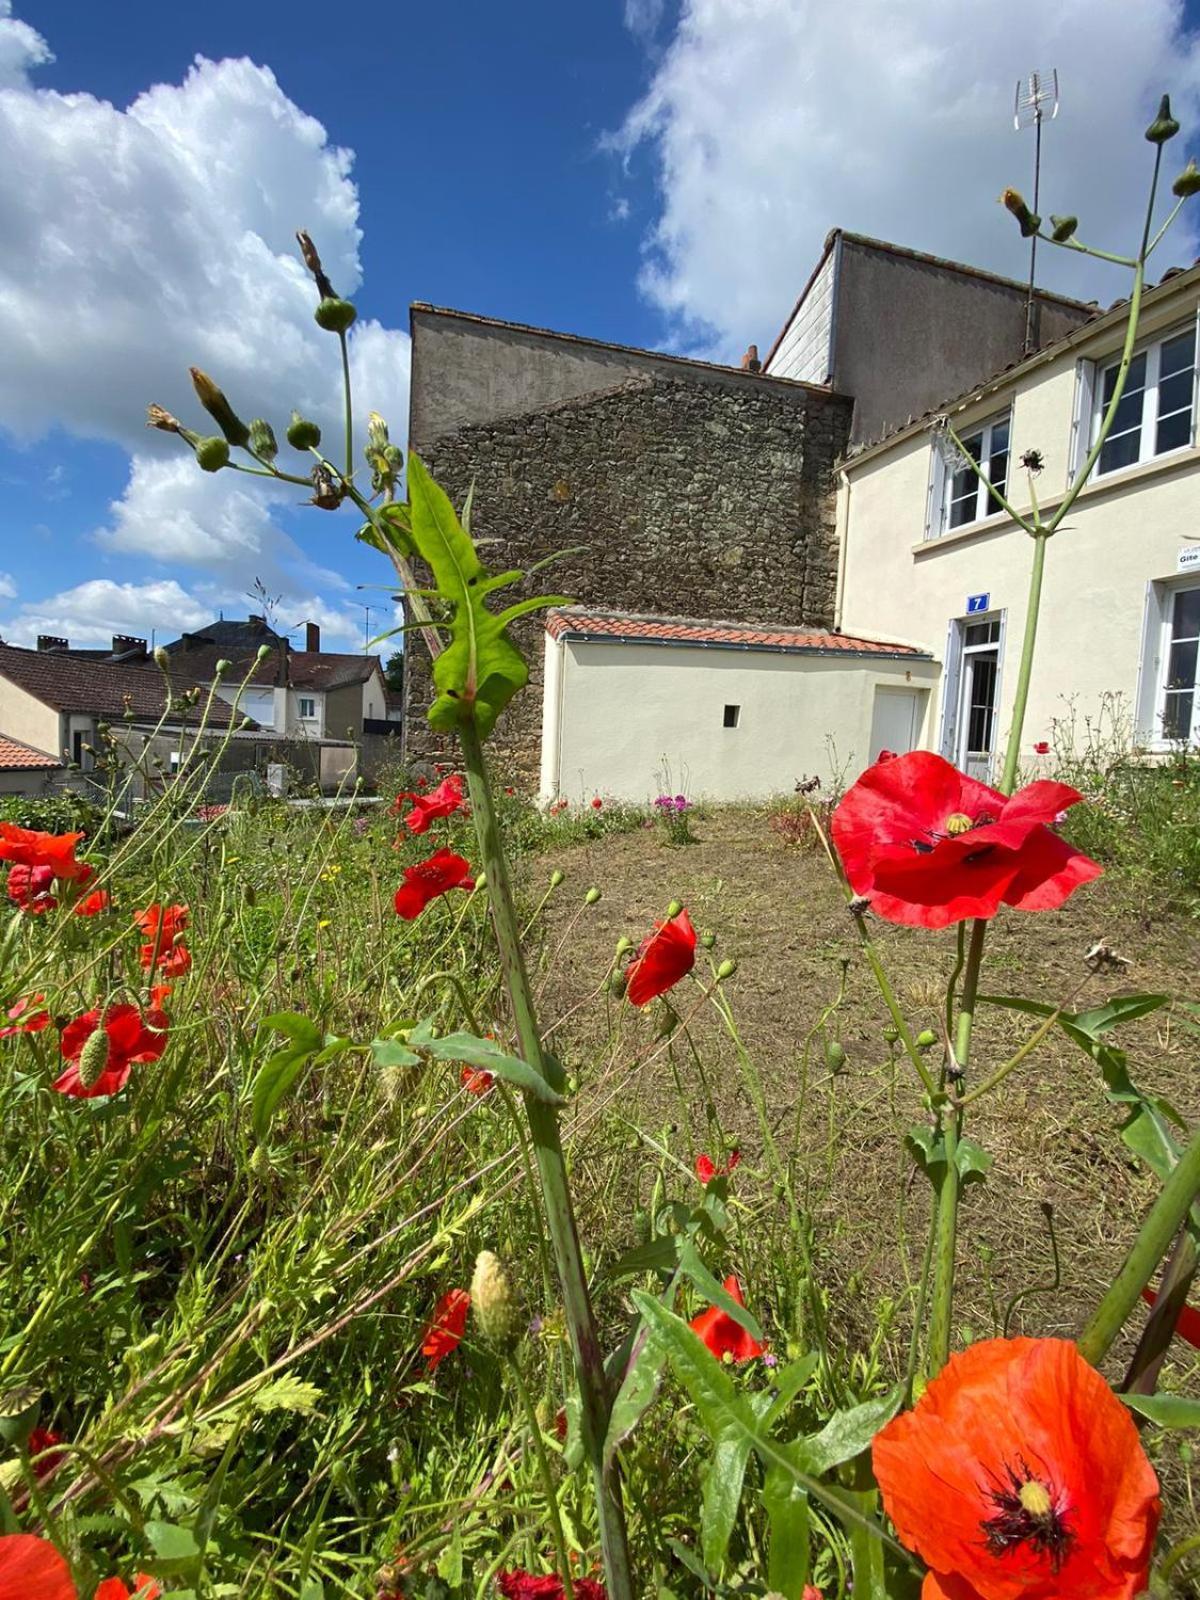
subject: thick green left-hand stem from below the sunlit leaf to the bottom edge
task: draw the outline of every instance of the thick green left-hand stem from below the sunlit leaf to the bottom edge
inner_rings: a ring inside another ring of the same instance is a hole
[[[520,926],[512,901],[509,864],[504,856],[496,810],[491,800],[483,746],[474,720],[464,718],[459,723],[459,739],[467,768],[475,837],[483,858],[483,870],[488,875],[488,899],[496,928],[501,970],[512,1003],[512,1016],[522,1054],[547,1083],[557,1086],[560,1069],[547,1056],[538,1027],[533,989],[530,986],[530,974],[525,970]],[[621,1494],[616,1480],[610,1478],[605,1472],[603,1453],[611,1402],[595,1315],[592,1312],[592,1298],[587,1290],[582,1251],[579,1248],[579,1232],[574,1222],[566,1157],[563,1155],[558,1133],[558,1114],[554,1106],[547,1106],[530,1096],[525,1098],[525,1110],[538,1162],[542,1202],[546,1205],[546,1226],[550,1234],[554,1261],[563,1294],[571,1352],[574,1355],[576,1381],[579,1384],[579,1434],[584,1454],[592,1467],[600,1523],[600,1550],[605,1563],[608,1595],[610,1600],[634,1600],[629,1541]]]

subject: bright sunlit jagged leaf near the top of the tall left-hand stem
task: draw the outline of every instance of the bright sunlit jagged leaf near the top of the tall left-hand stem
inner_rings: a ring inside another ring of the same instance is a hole
[[[530,669],[506,629],[517,616],[539,606],[563,605],[560,595],[522,600],[499,616],[485,597],[506,587],[520,573],[490,578],[469,534],[454,515],[446,493],[434,482],[419,456],[408,458],[408,509],[413,544],[429,565],[442,600],[451,606],[450,643],[434,662],[438,696],[429,709],[434,728],[453,731],[474,715],[486,738],[512,696],[525,688]]]

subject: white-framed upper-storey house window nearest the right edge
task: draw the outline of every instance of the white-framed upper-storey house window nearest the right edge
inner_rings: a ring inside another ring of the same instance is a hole
[[[1120,362],[1099,370],[1091,437],[1096,438],[1101,418],[1112,402]],[[1130,362],[1125,389],[1117,402],[1112,432],[1104,440],[1096,462],[1096,475],[1154,461],[1171,450],[1192,443],[1192,410],[1195,390],[1195,326],[1176,330],[1165,339],[1147,344]]]

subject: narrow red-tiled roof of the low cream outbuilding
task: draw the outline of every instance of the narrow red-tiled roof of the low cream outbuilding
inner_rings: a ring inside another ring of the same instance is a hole
[[[797,656],[906,656],[931,661],[926,650],[858,638],[813,627],[750,627],[688,616],[650,616],[635,611],[589,611],[560,606],[546,616],[552,638],[597,640],[616,645],[698,645],[710,650],[762,650]]]

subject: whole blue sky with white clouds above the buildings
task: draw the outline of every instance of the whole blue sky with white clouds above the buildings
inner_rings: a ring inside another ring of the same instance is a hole
[[[1200,122],[1192,19],[1133,10],[0,0],[0,635],[162,638],[261,578],[285,627],[362,638],[355,584],[382,574],[349,517],[202,478],[141,426],[149,400],[194,414],[189,362],[245,414],[333,416],[294,227],[354,293],[358,403],[398,438],[411,299],[736,358],[835,224],[1021,272],[995,195],[1027,176],[1029,66],[1064,86],[1046,208],[1128,237],[1157,93]],[[1195,253],[1189,224],[1170,259]]]

